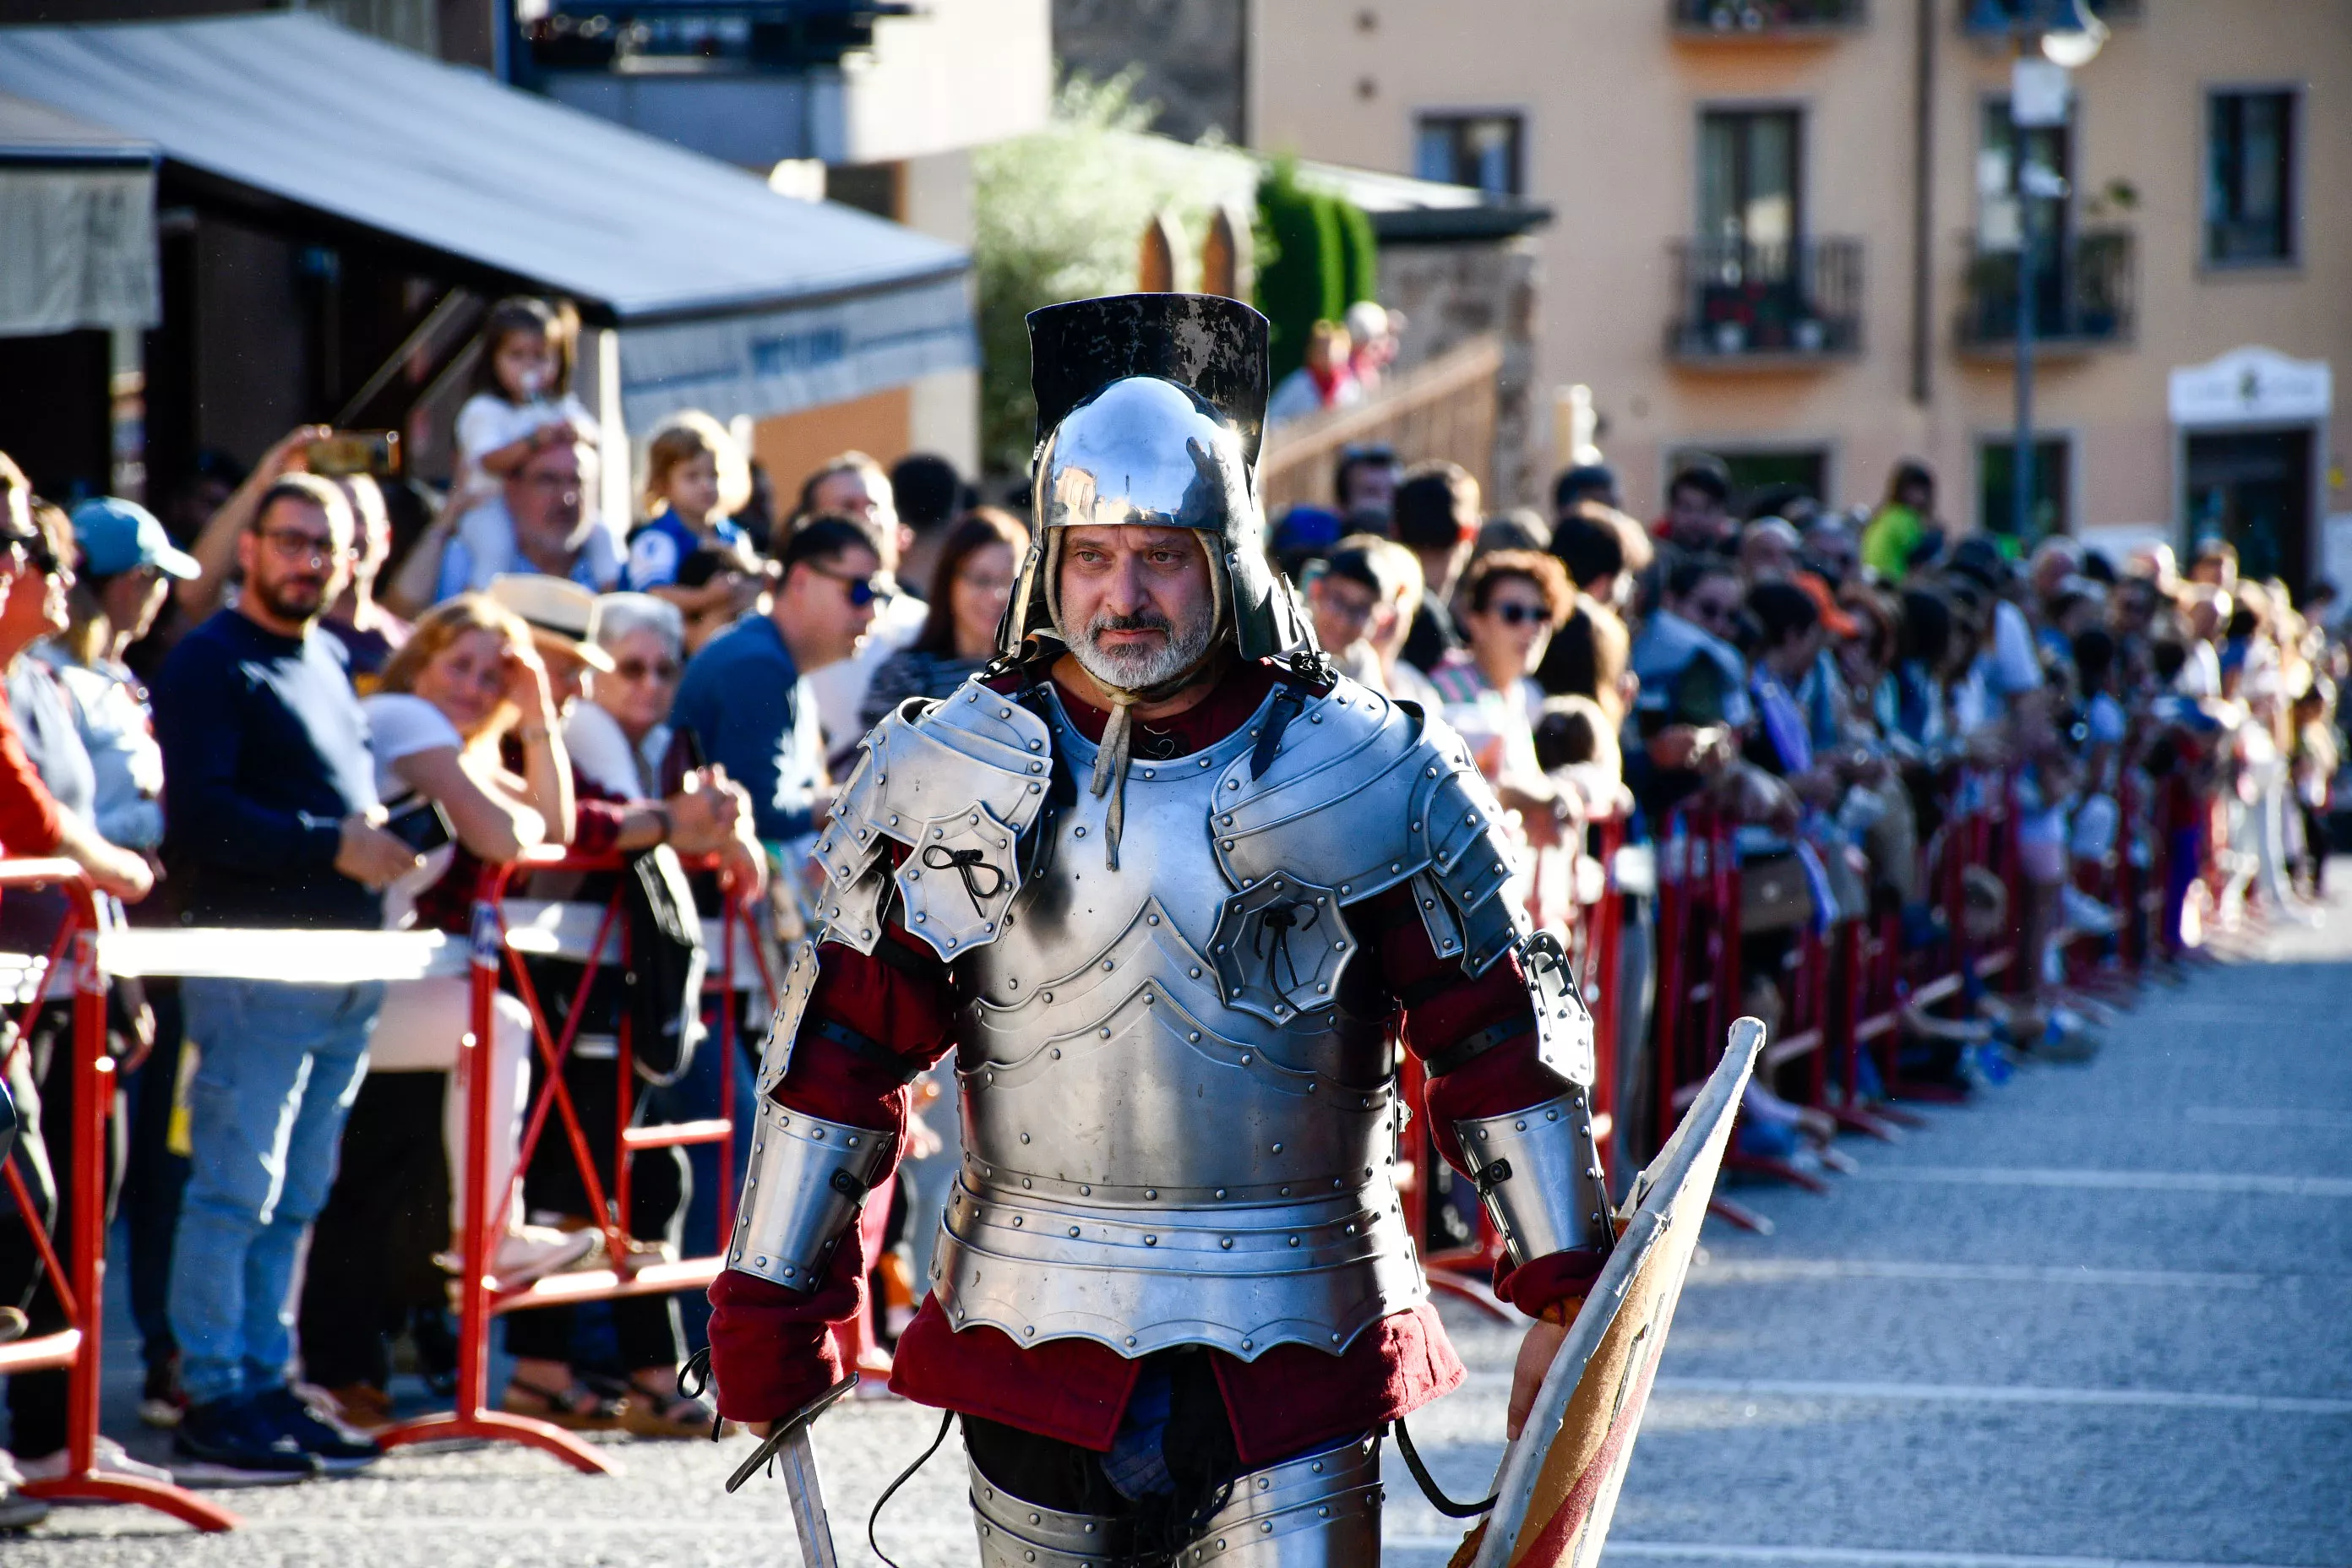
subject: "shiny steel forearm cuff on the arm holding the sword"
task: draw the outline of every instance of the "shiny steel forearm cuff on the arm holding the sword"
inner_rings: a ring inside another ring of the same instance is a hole
[[[866,1190],[889,1168],[896,1143],[896,1133],[826,1121],[762,1098],[727,1267],[814,1291],[842,1232],[856,1225]]]

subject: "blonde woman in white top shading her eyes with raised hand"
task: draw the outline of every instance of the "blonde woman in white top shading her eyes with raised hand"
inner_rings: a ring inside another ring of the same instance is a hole
[[[376,792],[388,827],[419,846],[423,867],[383,893],[386,924],[428,926],[463,938],[485,863],[513,860],[539,844],[572,839],[572,764],[564,755],[546,665],[529,628],[485,595],[459,595],[419,616],[409,642],[383,665],[381,689],[362,703],[376,757]],[[468,1211],[466,1095],[456,1091],[461,1039],[473,1030],[466,976],[400,980],[386,990],[367,1048],[369,1077],[452,1074],[442,1093],[440,1143],[449,1161],[452,1253]],[[513,1197],[529,1093],[529,1011],[494,997],[487,1192],[494,1225],[492,1272],[508,1286],[579,1262],[595,1232],[524,1225]],[[381,1425],[386,1234],[400,1192],[430,1152],[409,1126],[393,1086],[376,1084],[343,1128],[343,1161],[320,1215],[313,1281],[303,1291],[303,1361],[358,1425]]]

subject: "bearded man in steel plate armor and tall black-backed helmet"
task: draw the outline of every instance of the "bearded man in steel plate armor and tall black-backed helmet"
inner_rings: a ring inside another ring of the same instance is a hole
[[[1268,567],[1265,320],[1091,299],[1030,343],[1002,656],[875,726],[816,844],[710,1291],[720,1408],[840,1378],[858,1204],[955,1048],[962,1175],[891,1389],[962,1418],[981,1561],[1371,1563],[1378,1439],[1463,1380],[1399,1128],[1428,1114],[1538,1319],[1517,1425],[1609,1248],[1592,1025],[1461,738],[1336,677]]]

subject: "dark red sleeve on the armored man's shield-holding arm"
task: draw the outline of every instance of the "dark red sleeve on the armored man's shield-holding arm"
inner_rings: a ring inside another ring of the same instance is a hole
[[[1364,905],[1364,924],[1378,931],[1376,952],[1388,990],[1404,1004],[1404,1041],[1416,1056],[1432,1056],[1454,1041],[1512,1020],[1526,1027],[1503,1044],[1479,1051],[1454,1072],[1432,1077],[1421,1095],[1437,1152],[1463,1168],[1454,1124],[1475,1117],[1543,1105],[1569,1091],[1569,1081],[1536,1058],[1536,1011],[1517,954],[1503,954],[1486,973],[1468,976],[1456,959],[1430,945],[1411,893],[1395,889]],[[1569,1251],[1531,1258],[1496,1274],[1494,1293],[1529,1316],[1585,1295],[1599,1276],[1604,1251]]]

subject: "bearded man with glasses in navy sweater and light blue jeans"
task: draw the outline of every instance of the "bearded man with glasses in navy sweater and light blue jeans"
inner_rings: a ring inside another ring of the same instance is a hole
[[[280,477],[238,538],[235,607],[188,632],[155,679],[165,860],[188,924],[376,929],[381,889],[419,865],[379,825],[343,646],[315,630],[350,541],[339,489]],[[334,1180],[381,1001],[376,980],[181,983],[200,1051],[169,1293],[188,1392],[181,1479],[296,1481],[376,1453],[320,1422],[287,1363],[296,1246]]]

